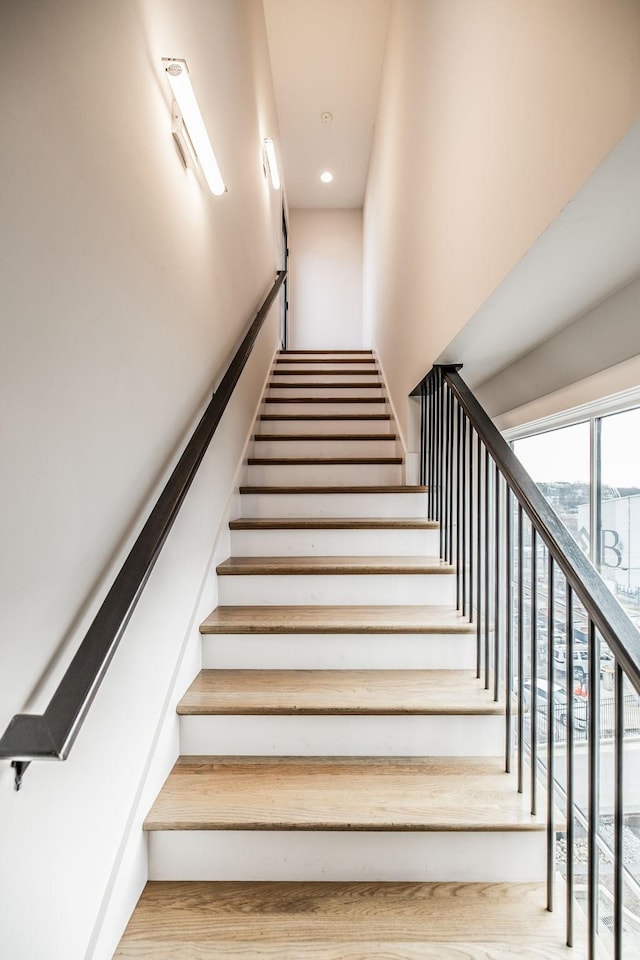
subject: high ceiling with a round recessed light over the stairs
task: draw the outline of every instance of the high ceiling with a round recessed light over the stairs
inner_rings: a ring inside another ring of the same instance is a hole
[[[290,207],[361,207],[390,0],[264,0]],[[329,111],[331,123],[321,114]],[[320,182],[323,170],[333,183]]]

